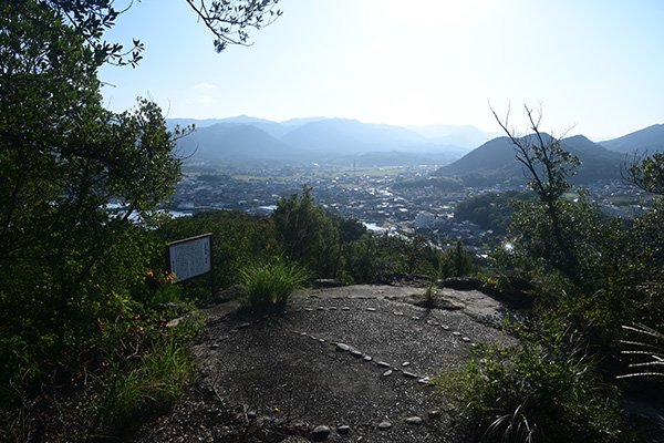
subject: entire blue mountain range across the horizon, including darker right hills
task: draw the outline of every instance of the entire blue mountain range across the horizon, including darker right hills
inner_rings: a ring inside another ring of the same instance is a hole
[[[444,165],[435,176],[460,177],[468,185],[525,182],[509,138],[474,126],[402,127],[325,117],[272,122],[246,115],[167,120],[169,127],[191,124],[197,130],[178,141],[178,154],[209,164]],[[632,154],[664,152],[664,124],[600,143],[575,135],[563,138],[561,145],[582,163],[573,182],[620,178],[621,163]]]

